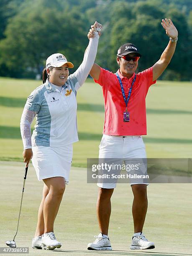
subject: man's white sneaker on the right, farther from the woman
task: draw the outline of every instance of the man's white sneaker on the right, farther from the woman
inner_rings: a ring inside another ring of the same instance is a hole
[[[144,233],[141,232],[140,236],[133,236],[132,243],[130,246],[130,249],[136,250],[136,249],[154,249],[155,245],[153,242],[149,242],[146,238]]]

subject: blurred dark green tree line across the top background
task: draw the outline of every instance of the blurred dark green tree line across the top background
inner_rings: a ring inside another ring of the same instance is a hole
[[[131,42],[142,54],[142,71],[169,42],[162,18],[172,19],[179,40],[161,79],[192,80],[192,0],[1,0],[0,76],[35,78],[56,52],[74,63],[74,72],[95,20],[103,24],[97,64],[115,72],[117,49]]]

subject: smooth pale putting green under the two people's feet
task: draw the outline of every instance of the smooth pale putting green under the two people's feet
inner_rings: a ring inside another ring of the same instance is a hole
[[[24,165],[19,162],[0,161],[0,247],[5,246],[6,240],[12,240],[16,232],[23,167]],[[191,184],[148,186],[148,214],[143,232],[156,246],[154,250],[148,251],[132,251],[129,248],[133,235],[133,195],[129,184],[118,184],[112,197],[109,230],[113,251],[102,253],[87,251],[87,243],[93,242],[94,236],[99,233],[96,217],[97,185],[87,184],[87,170],[76,167],[72,167],[70,182],[55,222],[54,232],[58,241],[61,241],[61,249],[42,251],[31,248],[42,187],[43,182],[37,181],[35,170],[30,164],[19,231],[15,238],[18,247],[29,247],[29,255],[192,256]]]

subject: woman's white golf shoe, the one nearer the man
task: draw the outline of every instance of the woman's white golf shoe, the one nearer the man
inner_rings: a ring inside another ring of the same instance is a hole
[[[53,232],[43,234],[41,240],[42,240],[41,247],[44,250],[54,250],[55,248],[61,247],[61,243],[56,241],[56,238]]]

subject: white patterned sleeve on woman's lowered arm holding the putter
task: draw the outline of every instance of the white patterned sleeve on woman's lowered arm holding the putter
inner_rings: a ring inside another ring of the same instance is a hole
[[[23,141],[24,150],[32,148],[31,144],[31,123],[37,112],[24,108],[23,114],[20,119],[20,133]]]

